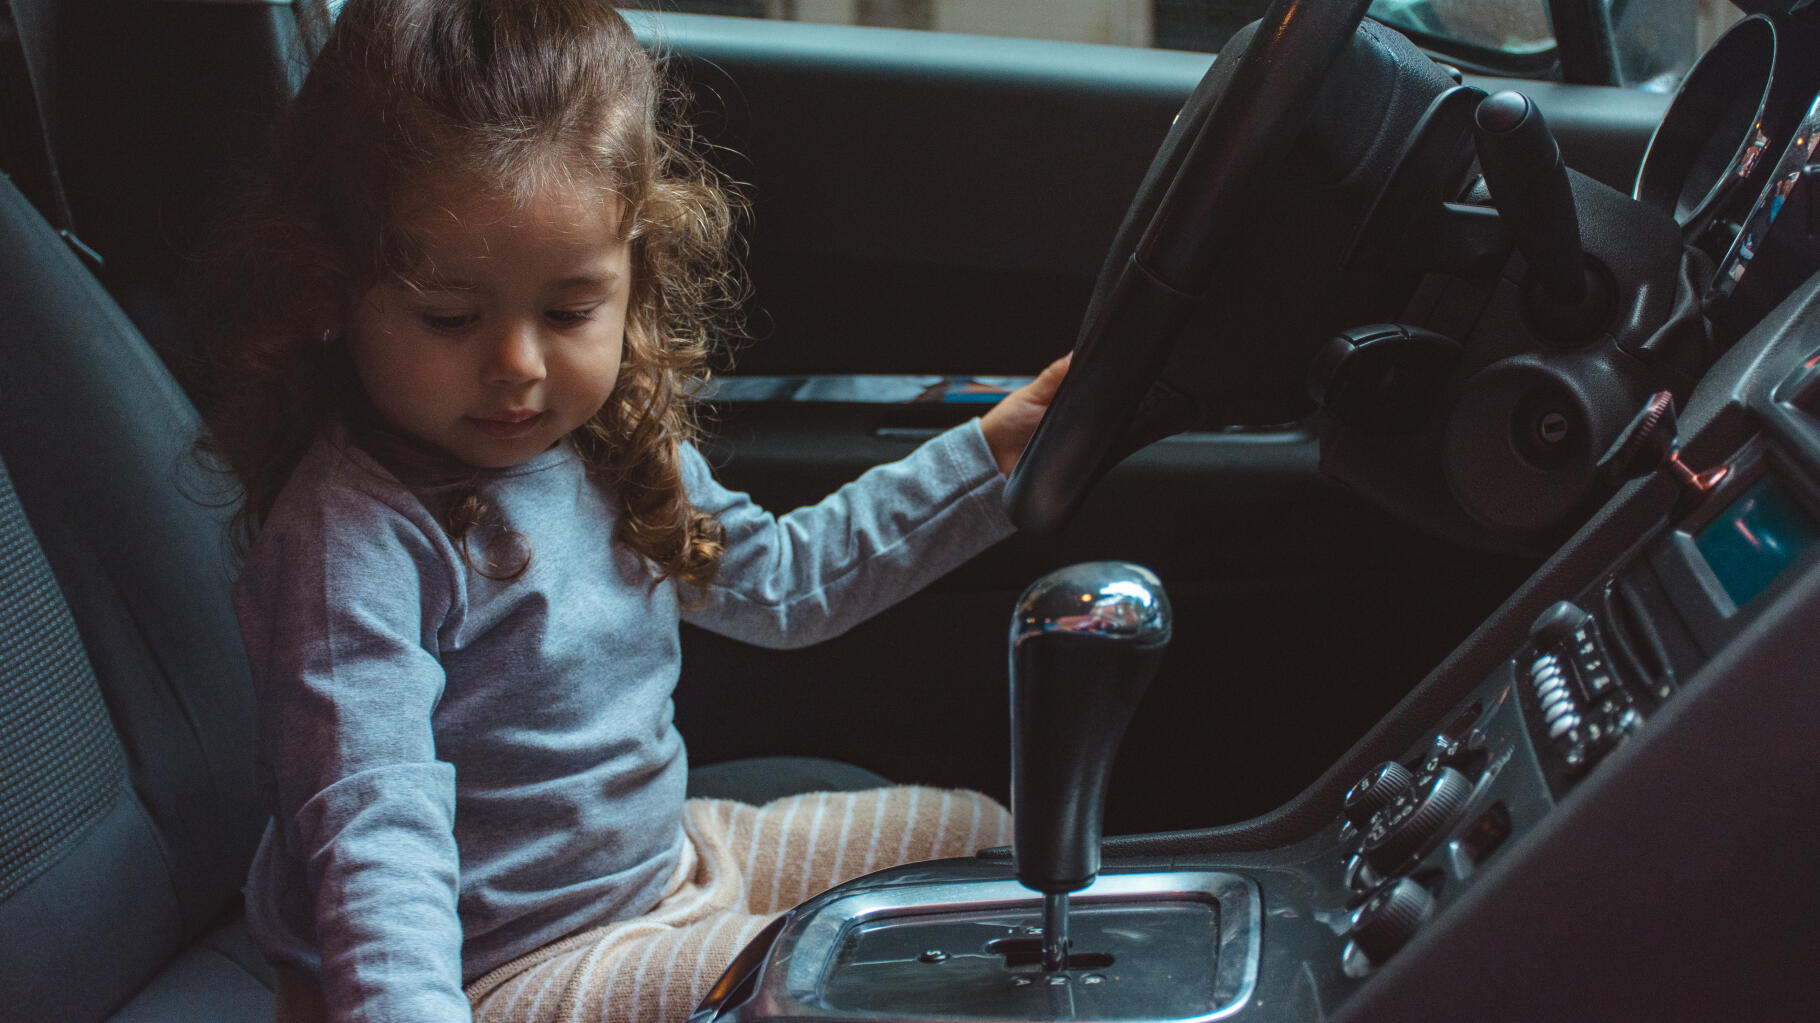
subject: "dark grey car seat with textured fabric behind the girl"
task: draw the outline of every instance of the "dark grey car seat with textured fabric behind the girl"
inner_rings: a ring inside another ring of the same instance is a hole
[[[0,1019],[269,1019],[237,912],[266,821],[251,684],[229,508],[186,468],[200,420],[11,182],[0,280]]]

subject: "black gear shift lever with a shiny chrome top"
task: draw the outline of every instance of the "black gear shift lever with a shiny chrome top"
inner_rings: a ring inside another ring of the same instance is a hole
[[[1012,854],[1043,892],[1043,968],[1068,956],[1068,892],[1099,874],[1107,772],[1168,646],[1163,582],[1138,564],[1050,572],[1012,617]]]

